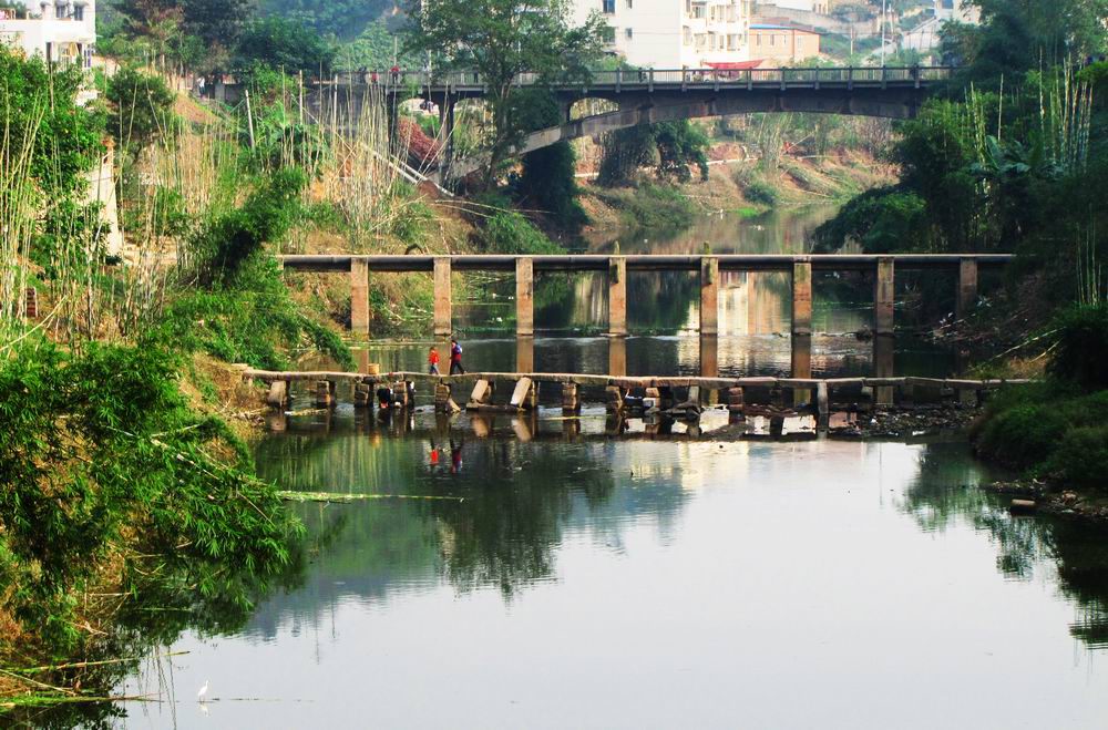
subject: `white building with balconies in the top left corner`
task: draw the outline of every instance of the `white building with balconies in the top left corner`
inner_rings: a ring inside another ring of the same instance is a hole
[[[45,61],[92,65],[96,44],[95,0],[18,2],[22,2],[24,10],[0,10],[0,42]]]

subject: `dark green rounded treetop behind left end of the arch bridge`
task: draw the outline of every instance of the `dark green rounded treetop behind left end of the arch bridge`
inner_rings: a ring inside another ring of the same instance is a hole
[[[279,17],[253,20],[243,28],[234,68],[263,64],[285,73],[304,71],[325,78],[331,71],[335,48],[315,31]]]

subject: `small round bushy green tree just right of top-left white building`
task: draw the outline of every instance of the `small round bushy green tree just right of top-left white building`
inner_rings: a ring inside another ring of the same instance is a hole
[[[174,124],[174,95],[161,76],[123,66],[109,79],[106,99],[107,131],[132,154],[165,138]]]

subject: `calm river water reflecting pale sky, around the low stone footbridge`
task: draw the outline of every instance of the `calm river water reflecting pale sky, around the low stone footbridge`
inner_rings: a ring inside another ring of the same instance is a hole
[[[849,307],[827,317],[860,321]],[[731,337],[721,372],[788,369],[788,338]],[[822,339],[813,370],[866,371],[868,342]],[[633,337],[627,369],[691,371],[695,342],[680,331]],[[899,368],[958,367],[950,353],[899,347]],[[536,366],[602,372],[607,348],[550,332]],[[738,357],[751,348],[757,357]],[[378,345],[365,358],[419,367],[422,351]],[[507,339],[465,349],[490,370],[514,354]],[[263,476],[381,498],[295,505],[307,536],[291,587],[245,626],[181,636],[170,650],[187,654],[120,688],[163,701],[124,705],[120,727],[1098,728],[1108,718],[1108,541],[1009,516],[977,489],[995,474],[956,434],[769,440],[709,412],[700,429],[639,423],[612,436],[598,408],[579,421],[554,409],[448,419],[427,408],[382,420],[342,404],[274,423],[256,449]],[[198,703],[205,681],[212,701]]]

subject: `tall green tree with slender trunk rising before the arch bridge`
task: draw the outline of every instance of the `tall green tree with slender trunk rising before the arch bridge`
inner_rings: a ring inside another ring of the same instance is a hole
[[[602,49],[599,17],[571,25],[568,0],[437,0],[413,2],[404,48],[440,58],[440,69],[478,71],[492,112],[485,185],[512,154],[524,132],[513,114],[516,76],[533,73],[536,85],[587,76]]]

